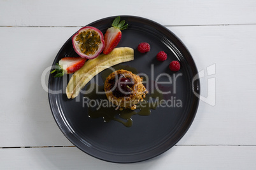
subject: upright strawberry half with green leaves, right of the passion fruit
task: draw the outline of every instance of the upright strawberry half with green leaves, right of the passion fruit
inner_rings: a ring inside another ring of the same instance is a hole
[[[107,55],[110,53],[119,43],[122,37],[121,30],[127,29],[128,24],[125,24],[125,20],[120,22],[120,16],[117,16],[112,23],[112,27],[106,30],[104,35],[105,47],[103,49],[103,53]]]

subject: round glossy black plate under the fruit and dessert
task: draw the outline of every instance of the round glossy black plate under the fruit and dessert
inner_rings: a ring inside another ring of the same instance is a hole
[[[115,16],[103,18],[89,25],[97,27],[104,33],[114,18]],[[174,75],[182,75],[176,79],[176,86],[173,82],[171,85],[163,84],[161,87],[165,91],[171,90],[171,95],[167,97],[169,100],[171,97],[176,101],[180,100],[182,107],[174,107],[174,105],[171,107],[169,103],[169,107],[158,107],[148,116],[134,115],[133,125],[127,128],[117,121],[104,122],[101,118],[90,118],[87,108],[83,107],[83,95],[68,100],[65,89],[71,76],[53,78],[53,75],[50,75],[48,98],[53,117],[60,130],[76,147],[98,159],[128,163],[162,154],[182,138],[196,115],[199,99],[193,91],[199,93],[200,84],[199,79],[192,82],[197,74],[192,56],[172,32],[159,23],[145,18],[121,16],[121,19],[125,20],[129,27],[122,30],[122,39],[118,46],[133,48],[135,58],[122,65],[134,67],[139,73],[144,73],[155,81],[160,73],[173,77],[174,73],[168,69],[168,65],[173,60],[179,60],[181,69]],[[150,52],[138,53],[136,48],[140,42],[149,42]],[[166,51],[168,55],[166,61],[159,62],[155,59],[159,51]],[[73,50],[71,38],[60,49],[53,65],[64,56],[78,56]],[[159,81],[168,81],[167,76],[160,77]],[[57,93],[53,94],[52,91]],[[174,103],[174,100],[172,102]]]

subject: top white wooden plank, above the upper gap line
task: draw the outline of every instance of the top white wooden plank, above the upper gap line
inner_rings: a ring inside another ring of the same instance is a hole
[[[81,0],[0,1],[0,26],[82,26],[115,15],[142,16],[162,25],[252,24],[256,23],[256,3],[253,0],[207,3],[130,0],[118,4]]]

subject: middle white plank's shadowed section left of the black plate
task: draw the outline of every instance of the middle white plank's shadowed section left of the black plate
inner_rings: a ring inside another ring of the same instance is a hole
[[[1,147],[72,145],[53,119],[41,75],[75,30],[1,28]]]

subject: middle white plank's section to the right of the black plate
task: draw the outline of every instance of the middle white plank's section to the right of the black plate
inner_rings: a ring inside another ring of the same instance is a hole
[[[216,104],[201,101],[196,119],[180,144],[255,144],[254,108],[256,43],[254,26],[171,27],[196,61],[201,94],[207,96],[208,78],[216,80]],[[216,74],[207,76],[215,64]],[[191,131],[191,133],[190,133]]]

